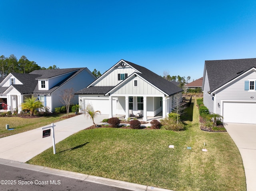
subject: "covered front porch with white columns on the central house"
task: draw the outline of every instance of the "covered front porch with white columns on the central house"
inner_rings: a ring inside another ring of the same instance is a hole
[[[159,95],[109,96],[109,118],[123,115],[125,119],[135,117],[148,121],[148,117],[155,117],[160,113],[161,118],[165,118],[171,110],[171,101],[169,97]]]

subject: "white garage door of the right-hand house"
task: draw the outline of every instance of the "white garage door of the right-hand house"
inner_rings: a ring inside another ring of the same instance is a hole
[[[223,122],[256,124],[256,103],[224,102]]]

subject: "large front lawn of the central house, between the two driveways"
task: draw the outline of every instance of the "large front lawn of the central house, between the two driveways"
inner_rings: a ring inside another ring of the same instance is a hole
[[[28,163],[175,191],[246,191],[238,148],[226,132],[200,130],[193,106],[185,131],[82,130]]]

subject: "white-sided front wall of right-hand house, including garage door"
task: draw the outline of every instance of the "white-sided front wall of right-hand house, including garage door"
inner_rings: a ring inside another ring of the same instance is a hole
[[[245,81],[250,79],[256,79],[255,72],[236,79],[216,92],[215,110],[223,116],[224,122],[256,124],[256,91],[246,91],[244,88]]]

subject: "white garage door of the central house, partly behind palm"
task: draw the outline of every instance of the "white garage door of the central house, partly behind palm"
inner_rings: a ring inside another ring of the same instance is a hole
[[[85,99],[85,106],[90,103],[95,111],[100,111],[101,114],[109,114],[109,100],[108,99]]]

